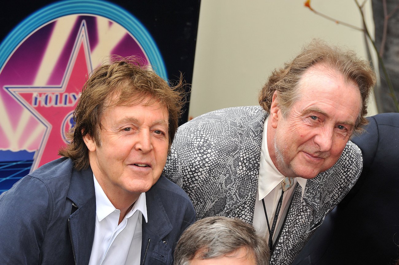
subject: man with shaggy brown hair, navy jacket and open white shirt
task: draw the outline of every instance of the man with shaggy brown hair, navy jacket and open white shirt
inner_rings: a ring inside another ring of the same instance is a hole
[[[97,68],[60,159],[0,196],[1,264],[168,264],[195,220],[161,175],[182,94],[135,58]]]

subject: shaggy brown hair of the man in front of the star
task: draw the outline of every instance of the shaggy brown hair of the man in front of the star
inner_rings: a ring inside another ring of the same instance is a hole
[[[89,135],[101,144],[101,115],[106,108],[140,104],[150,96],[146,104],[157,102],[168,110],[169,147],[178,128],[184,104],[182,76],[176,86],[170,87],[139,57],[114,56],[109,61],[95,69],[83,86],[73,112],[75,126],[68,133],[69,144],[58,151],[59,155],[71,158],[77,170],[89,167],[89,150],[83,137]],[[111,98],[118,100],[110,102]]]

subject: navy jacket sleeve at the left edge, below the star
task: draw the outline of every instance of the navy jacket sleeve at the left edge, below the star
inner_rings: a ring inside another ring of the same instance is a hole
[[[0,264],[40,264],[50,202],[44,183],[30,176],[0,196]]]

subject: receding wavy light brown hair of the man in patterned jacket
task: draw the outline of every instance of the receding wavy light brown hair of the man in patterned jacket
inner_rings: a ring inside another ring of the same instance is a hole
[[[313,65],[324,65],[340,73],[347,82],[355,82],[359,87],[362,106],[356,120],[354,133],[362,131],[367,124],[367,102],[376,77],[368,61],[359,59],[354,51],[330,46],[320,39],[312,40],[300,53],[284,67],[275,69],[262,90],[259,92],[259,104],[266,112],[270,107],[275,91],[278,92],[282,114],[286,116],[291,106],[300,98],[299,84],[302,75]]]

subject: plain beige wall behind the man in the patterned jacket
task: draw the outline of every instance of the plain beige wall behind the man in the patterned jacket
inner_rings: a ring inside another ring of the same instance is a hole
[[[373,32],[370,2],[365,11]],[[361,25],[354,1],[311,4],[338,20]],[[304,7],[304,0],[201,0],[189,116],[258,105],[257,93],[271,71],[315,37],[345,45],[366,58],[360,31],[317,16]],[[371,102],[369,114],[376,113]]]

